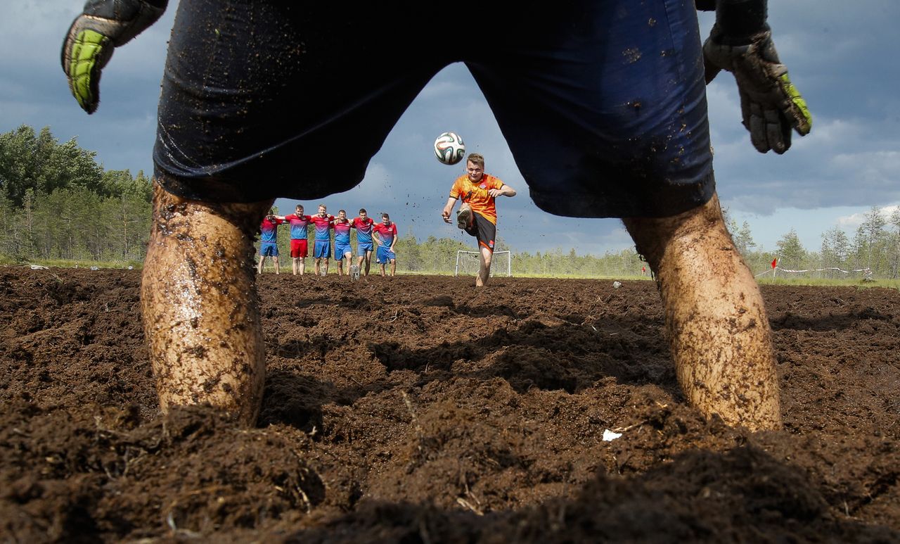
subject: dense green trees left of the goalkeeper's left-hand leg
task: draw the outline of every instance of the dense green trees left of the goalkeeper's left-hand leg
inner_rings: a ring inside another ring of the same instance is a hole
[[[103,170],[76,139],[44,127],[0,134],[0,254],[4,260],[139,262],[150,231],[143,172]]]

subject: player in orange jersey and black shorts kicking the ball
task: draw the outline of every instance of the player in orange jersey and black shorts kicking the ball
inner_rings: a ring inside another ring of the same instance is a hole
[[[491,258],[494,255],[494,240],[497,238],[495,201],[498,196],[515,196],[516,189],[506,185],[498,177],[485,174],[484,157],[478,153],[469,155],[465,169],[467,174],[457,177],[450,188],[450,198],[441,215],[445,222],[450,222],[450,213],[453,212],[456,201],[463,201],[456,213],[456,226],[478,240],[482,258],[475,286],[483,287],[491,277]]]

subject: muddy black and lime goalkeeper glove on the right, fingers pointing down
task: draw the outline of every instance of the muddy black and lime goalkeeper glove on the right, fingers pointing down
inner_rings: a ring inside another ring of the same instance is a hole
[[[748,44],[729,45],[715,25],[703,44],[703,56],[707,83],[720,69],[734,74],[743,126],[758,151],[784,153],[790,148],[791,129],[800,136],[809,133],[813,118],[788,78],[788,68],[779,61],[769,30],[755,34]]]

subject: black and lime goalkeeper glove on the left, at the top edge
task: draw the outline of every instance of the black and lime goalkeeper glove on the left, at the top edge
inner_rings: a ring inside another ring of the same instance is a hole
[[[68,87],[87,113],[100,102],[100,73],[112,50],[156,23],[167,0],[88,0],[62,44]]]

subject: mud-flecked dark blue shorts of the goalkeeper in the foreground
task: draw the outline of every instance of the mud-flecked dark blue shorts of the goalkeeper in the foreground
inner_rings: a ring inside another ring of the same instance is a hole
[[[332,4],[178,3],[153,152],[166,191],[221,202],[346,191],[419,91],[457,61],[540,208],[669,216],[715,191],[693,2],[493,3],[480,7],[482,39],[441,48],[435,36],[459,32],[445,5]],[[403,32],[383,31],[400,17]],[[329,168],[295,168],[313,162]]]

